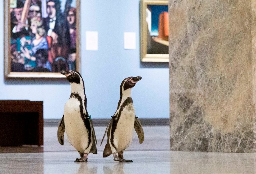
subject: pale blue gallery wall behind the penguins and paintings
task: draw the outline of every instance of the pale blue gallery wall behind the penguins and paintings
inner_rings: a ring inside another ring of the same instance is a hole
[[[132,89],[139,118],[169,117],[168,63],[140,62],[139,1],[81,0],[81,74],[92,118],[110,118],[119,101],[121,81],[141,76]],[[3,0],[0,0],[3,4]],[[3,38],[3,6],[0,8]],[[98,31],[99,50],[85,50],[85,31]],[[136,33],[136,49],[124,50],[123,33]],[[5,80],[3,39],[0,40],[0,99],[43,101],[44,119],[60,119],[70,95],[65,80]]]

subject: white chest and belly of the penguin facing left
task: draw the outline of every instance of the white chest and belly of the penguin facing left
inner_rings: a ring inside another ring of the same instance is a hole
[[[89,142],[88,130],[81,118],[80,102],[77,99],[70,98],[66,102],[64,107],[64,120],[65,130],[70,144],[74,146],[77,151],[89,153],[90,148],[87,148]]]

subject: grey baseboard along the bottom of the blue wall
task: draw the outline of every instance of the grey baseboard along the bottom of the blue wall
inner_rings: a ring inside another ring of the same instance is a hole
[[[168,118],[141,118],[139,119],[143,126],[169,126]],[[93,119],[93,126],[107,126],[110,119]],[[44,119],[45,127],[58,126],[60,119]]]

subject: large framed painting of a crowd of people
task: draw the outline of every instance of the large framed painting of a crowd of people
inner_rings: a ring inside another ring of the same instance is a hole
[[[4,0],[4,12],[5,78],[79,71],[79,0]]]

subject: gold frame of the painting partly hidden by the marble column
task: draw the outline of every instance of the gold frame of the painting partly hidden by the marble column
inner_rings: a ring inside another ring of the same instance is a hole
[[[169,54],[147,54],[147,5],[168,5],[168,0],[141,0],[140,2],[140,59],[142,62],[169,62]]]

